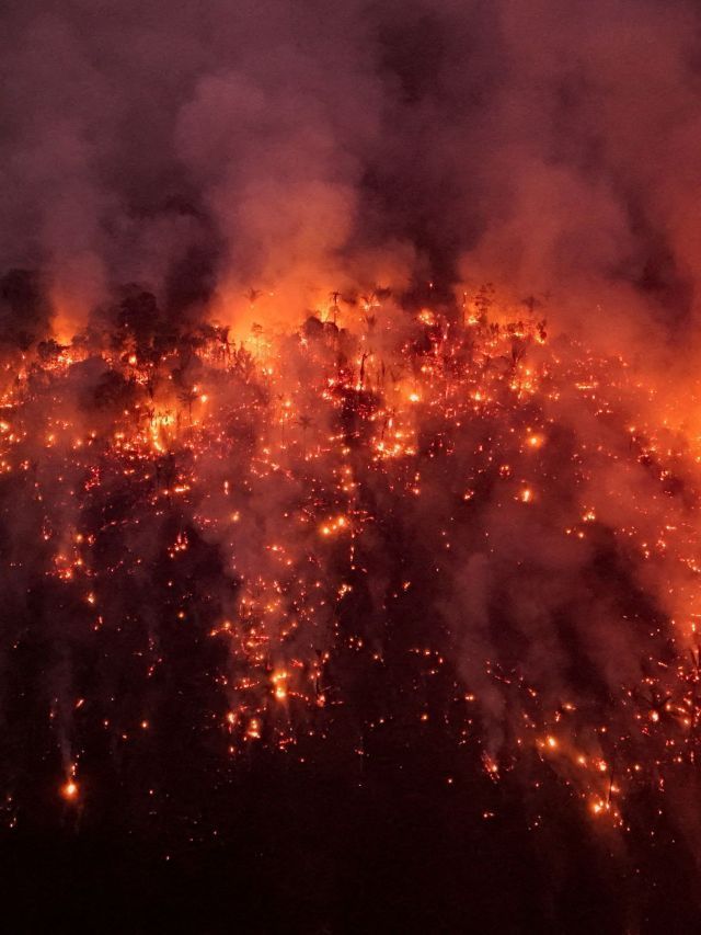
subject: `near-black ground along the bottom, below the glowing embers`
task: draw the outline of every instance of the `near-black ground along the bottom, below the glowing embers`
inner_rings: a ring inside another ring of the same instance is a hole
[[[537,826],[537,800],[475,778],[438,737],[409,749],[398,729],[343,768],[256,754],[214,791],[183,751],[150,823],[118,782],[51,823],[47,787],[39,820],[2,835],[5,931],[697,931],[692,860],[664,824],[591,834],[553,782]]]

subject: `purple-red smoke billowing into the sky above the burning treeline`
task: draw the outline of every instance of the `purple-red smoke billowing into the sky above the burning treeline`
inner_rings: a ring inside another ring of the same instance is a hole
[[[504,282],[623,337],[696,309],[692,3],[5,8],[0,263],[142,282]],[[561,312],[563,313],[563,312]],[[641,324],[643,322],[643,324]]]

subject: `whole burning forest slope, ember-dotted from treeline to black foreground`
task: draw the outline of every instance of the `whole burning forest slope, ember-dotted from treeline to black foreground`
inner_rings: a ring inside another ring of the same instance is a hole
[[[101,756],[153,805],[166,736],[235,771],[310,738],[363,759],[400,719],[524,796],[556,777],[614,834],[636,796],[674,801],[701,712],[694,442],[628,361],[521,310],[334,294],[233,341],[131,288],[70,343],[5,334],[9,821],[27,723],[81,808]]]

